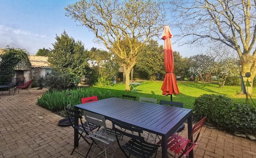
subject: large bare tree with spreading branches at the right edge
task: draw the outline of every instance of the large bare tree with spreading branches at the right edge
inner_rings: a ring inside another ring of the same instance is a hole
[[[256,0],[176,0],[174,26],[181,30],[186,44],[225,45],[241,60],[242,74],[256,74]],[[189,36],[189,37],[188,37]],[[215,41],[215,42],[213,42]],[[218,42],[216,42],[218,41]],[[252,88],[248,90],[252,92]]]

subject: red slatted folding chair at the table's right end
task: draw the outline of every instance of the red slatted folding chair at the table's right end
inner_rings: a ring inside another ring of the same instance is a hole
[[[188,138],[184,138],[180,135],[175,134],[167,140],[167,147],[170,151],[175,153],[174,157],[176,156],[176,154],[180,154],[178,156],[179,158],[181,158],[182,156],[187,156],[188,153],[198,144],[197,140],[205,120],[206,116],[198,123],[196,123],[196,125],[194,125],[192,133]],[[191,138],[193,138],[194,134],[196,135],[196,139],[191,142]],[[161,140],[157,144],[161,144]]]

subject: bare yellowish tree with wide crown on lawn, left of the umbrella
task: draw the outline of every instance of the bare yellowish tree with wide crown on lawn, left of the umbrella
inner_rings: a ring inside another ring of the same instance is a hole
[[[130,71],[140,48],[164,27],[162,5],[154,0],[80,0],[65,9],[66,16],[90,29],[98,42],[122,59],[126,90],[130,90]]]

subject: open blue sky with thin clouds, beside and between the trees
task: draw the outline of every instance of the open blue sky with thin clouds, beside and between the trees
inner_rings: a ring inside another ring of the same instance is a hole
[[[26,49],[34,55],[40,48],[52,48],[56,34],[64,30],[68,35],[84,43],[86,49],[92,47],[104,49],[94,43],[94,34],[87,28],[77,26],[78,23],[65,16],[64,7],[74,3],[74,0],[0,0],[0,48],[7,45]],[[171,28],[172,29],[172,28]],[[175,32],[174,34],[175,40]],[[163,41],[159,40],[162,45]],[[178,47],[175,51],[188,57],[200,53],[200,48],[191,49],[187,45]]]

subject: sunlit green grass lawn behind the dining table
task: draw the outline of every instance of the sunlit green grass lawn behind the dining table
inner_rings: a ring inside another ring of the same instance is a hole
[[[157,98],[158,103],[160,100],[170,100],[170,96],[162,96],[162,86],[161,81],[142,81],[142,85],[138,88],[138,93],[126,92],[124,84],[116,84],[112,87],[90,87],[96,90],[110,90],[120,97],[122,94],[131,96],[143,96],[148,98]],[[245,103],[245,96],[240,95],[240,86],[224,86],[219,88],[218,84],[210,83],[194,83],[189,81],[178,81],[178,87],[180,94],[173,96],[173,101],[179,101],[184,103],[185,108],[192,109],[195,98],[201,96],[202,94],[224,94],[233,99],[235,103]],[[238,95],[239,94],[239,95]],[[256,97],[252,96],[254,102],[256,102]],[[137,98],[138,100],[138,98]],[[251,100],[249,100],[252,103]]]

